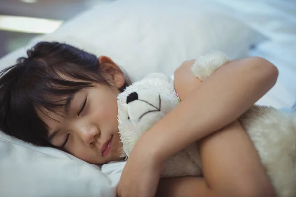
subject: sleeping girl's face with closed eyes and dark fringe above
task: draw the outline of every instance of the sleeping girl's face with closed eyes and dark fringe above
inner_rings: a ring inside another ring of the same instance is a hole
[[[112,86],[95,84],[84,88],[72,97],[63,117],[48,112],[50,119],[43,118],[54,146],[92,164],[122,159],[117,95],[118,88],[124,84],[124,76],[118,66],[111,63],[103,68]]]

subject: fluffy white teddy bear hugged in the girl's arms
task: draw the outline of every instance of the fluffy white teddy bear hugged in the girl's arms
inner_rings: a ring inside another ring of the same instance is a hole
[[[192,71],[205,80],[229,62],[221,52],[196,59]],[[170,77],[150,74],[118,95],[119,133],[123,156],[129,157],[141,135],[180,102]],[[296,197],[296,115],[254,105],[240,119],[264,164],[278,197]],[[196,143],[169,158],[162,177],[202,176]]]

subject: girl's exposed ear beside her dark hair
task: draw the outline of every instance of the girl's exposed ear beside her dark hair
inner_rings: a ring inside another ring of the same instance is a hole
[[[118,89],[121,88],[124,85],[125,78],[120,67],[107,56],[99,57],[98,61],[109,83],[114,84]]]

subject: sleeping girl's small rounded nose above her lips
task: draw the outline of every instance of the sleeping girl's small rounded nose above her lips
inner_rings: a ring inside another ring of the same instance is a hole
[[[95,125],[80,127],[78,130],[80,137],[86,146],[92,146],[100,136],[100,131]]]

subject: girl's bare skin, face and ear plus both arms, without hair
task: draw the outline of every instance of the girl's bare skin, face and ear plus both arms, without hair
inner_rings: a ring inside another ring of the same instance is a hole
[[[273,197],[259,156],[235,120],[275,84],[277,69],[262,58],[236,60],[201,83],[190,69],[193,61],[176,70],[181,104],[137,142],[118,185],[118,197],[154,197],[165,159],[198,140],[204,177],[161,180],[159,196]],[[63,116],[48,112],[51,119],[43,117],[53,145],[93,164],[122,159],[116,97],[124,75],[110,58],[101,56],[99,63],[111,87],[83,88],[67,112],[59,112]]]

